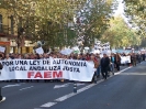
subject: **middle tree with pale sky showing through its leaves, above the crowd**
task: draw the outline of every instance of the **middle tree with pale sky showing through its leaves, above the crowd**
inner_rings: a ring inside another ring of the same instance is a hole
[[[101,37],[110,28],[109,21],[116,6],[115,0],[89,0],[77,14],[77,41],[82,41],[83,46],[90,46],[94,39]]]

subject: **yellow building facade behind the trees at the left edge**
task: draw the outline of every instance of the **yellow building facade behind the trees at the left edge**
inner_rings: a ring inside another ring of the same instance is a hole
[[[5,47],[5,53],[19,53],[18,51],[18,28],[14,26],[13,15],[4,9],[0,9],[0,46]],[[33,53],[34,44],[22,39],[20,53]]]

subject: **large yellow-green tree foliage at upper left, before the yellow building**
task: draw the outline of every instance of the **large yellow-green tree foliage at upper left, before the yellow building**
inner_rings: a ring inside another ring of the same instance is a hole
[[[0,8],[13,15],[14,26],[23,29],[26,37],[57,46],[56,42],[65,45],[67,23],[72,21],[75,12],[85,2],[86,0],[2,0]]]

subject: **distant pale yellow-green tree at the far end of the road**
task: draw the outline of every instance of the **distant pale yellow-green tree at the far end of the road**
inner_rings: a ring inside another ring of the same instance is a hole
[[[112,47],[128,47],[139,45],[141,37],[128,28],[122,17],[110,21],[111,28],[104,32],[101,40],[110,42]]]

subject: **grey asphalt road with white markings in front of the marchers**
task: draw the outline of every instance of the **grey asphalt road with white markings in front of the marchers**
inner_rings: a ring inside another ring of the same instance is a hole
[[[0,109],[146,109],[146,62],[98,84],[0,83]]]

